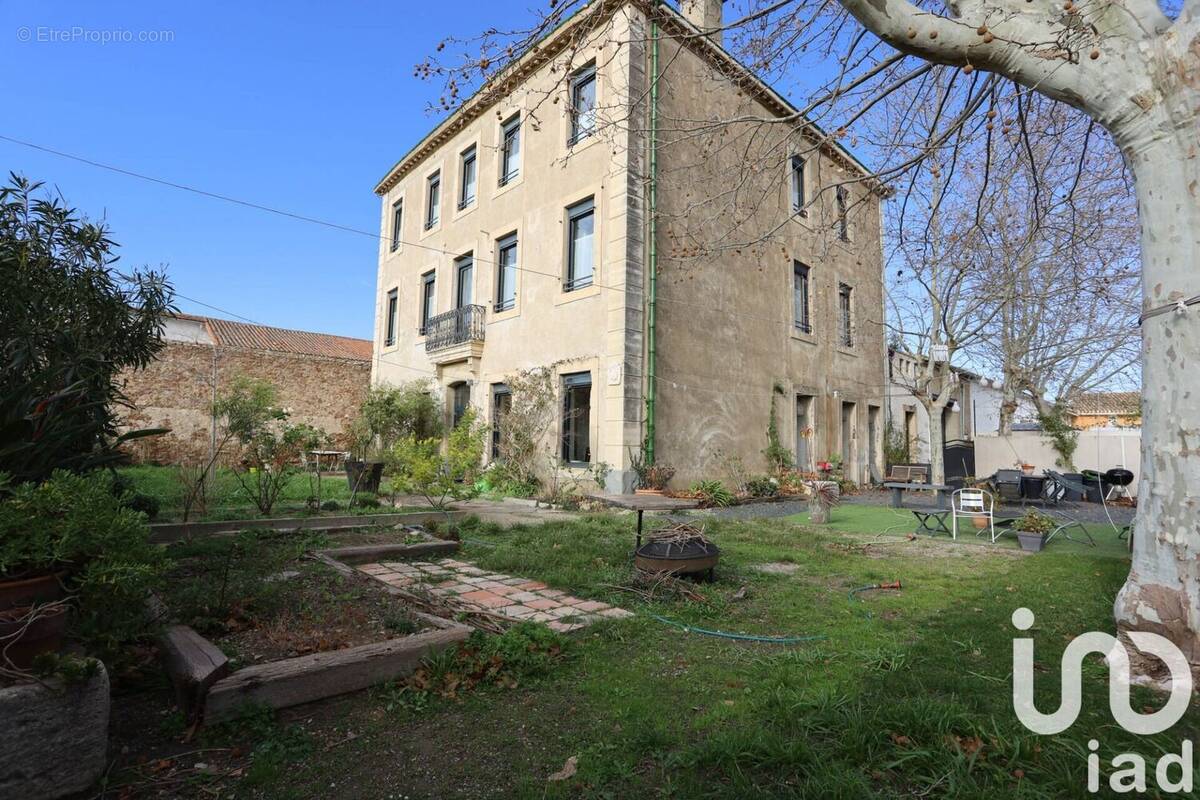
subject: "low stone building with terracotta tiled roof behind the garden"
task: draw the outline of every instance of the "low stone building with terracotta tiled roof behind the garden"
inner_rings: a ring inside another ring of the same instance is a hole
[[[239,375],[272,383],[293,421],[320,428],[337,445],[344,445],[346,426],[370,389],[366,339],[187,314],[168,319],[164,337],[150,366],[122,377],[134,407],[124,414],[125,428],[170,428],[131,444],[139,462],[205,461],[214,439],[212,401]]]

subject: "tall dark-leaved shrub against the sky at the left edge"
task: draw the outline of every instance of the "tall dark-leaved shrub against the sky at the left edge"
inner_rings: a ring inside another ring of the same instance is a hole
[[[14,482],[120,461],[121,374],[162,348],[172,288],[118,271],[116,243],[41,184],[0,188],[0,464]],[[160,432],[161,433],[161,432]]]

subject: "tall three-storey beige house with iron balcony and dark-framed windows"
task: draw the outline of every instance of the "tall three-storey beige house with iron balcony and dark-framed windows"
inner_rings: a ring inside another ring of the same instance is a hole
[[[652,154],[656,114],[797,113],[701,35],[720,0],[684,8],[586,5],[388,172],[372,379],[425,375],[448,420],[468,403],[492,419],[505,375],[552,368],[556,451],[611,465],[608,491],[630,488],[647,437],[677,485],[724,477],[728,456],[766,470],[772,409],[802,467],[840,455],[865,481],[882,473],[883,190],[806,122],[761,126],[769,175],[736,174],[704,134]],[[689,252],[690,210],[738,181],[739,236],[758,245]]]

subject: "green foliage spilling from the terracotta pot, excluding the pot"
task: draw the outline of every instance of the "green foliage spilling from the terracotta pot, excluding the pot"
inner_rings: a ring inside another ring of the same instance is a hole
[[[100,473],[59,470],[43,483],[0,477],[0,576],[62,571],[77,601],[73,632],[106,657],[148,633],[145,601],[168,566],[145,517]]]

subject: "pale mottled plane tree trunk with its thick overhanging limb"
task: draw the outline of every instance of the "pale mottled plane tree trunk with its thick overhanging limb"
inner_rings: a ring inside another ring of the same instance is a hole
[[[1200,0],[1176,19],[1154,0],[948,4],[956,18],[910,0],[839,2],[898,50],[1004,76],[1108,130],[1136,182],[1144,312],[1200,295]],[[1085,11],[1090,44],[1072,38]],[[1133,565],[1114,612],[1200,673],[1200,306],[1142,323],[1142,402]]]

